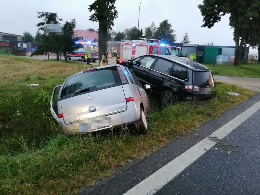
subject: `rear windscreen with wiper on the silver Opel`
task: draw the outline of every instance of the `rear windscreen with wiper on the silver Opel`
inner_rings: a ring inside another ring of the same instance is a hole
[[[117,68],[106,67],[69,78],[62,90],[61,99],[122,85]]]

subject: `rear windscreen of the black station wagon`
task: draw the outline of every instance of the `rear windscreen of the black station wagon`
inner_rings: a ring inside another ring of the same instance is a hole
[[[198,87],[213,87],[214,80],[211,71],[195,72],[193,71],[194,85]]]

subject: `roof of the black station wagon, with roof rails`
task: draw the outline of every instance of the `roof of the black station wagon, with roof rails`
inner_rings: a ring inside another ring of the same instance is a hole
[[[171,60],[173,62],[176,62],[176,63],[179,63],[179,64],[182,64],[184,65],[185,67],[188,67],[190,69],[203,69],[203,70],[210,70],[208,69],[207,67],[205,67],[204,65],[200,64],[200,63],[196,63],[196,64],[189,64],[189,60],[185,59],[185,58],[182,58],[182,57],[178,57],[178,56],[174,56],[174,55],[157,55],[157,54],[150,54],[150,55],[145,55],[145,56],[157,56],[157,57],[160,57],[160,58],[164,58],[164,59],[167,59],[167,60]]]

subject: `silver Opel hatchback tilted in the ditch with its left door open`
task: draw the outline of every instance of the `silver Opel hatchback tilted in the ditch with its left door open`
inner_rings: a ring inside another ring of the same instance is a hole
[[[65,135],[96,132],[134,124],[139,133],[147,132],[150,110],[144,88],[122,65],[108,65],[69,76],[53,88],[50,110]]]

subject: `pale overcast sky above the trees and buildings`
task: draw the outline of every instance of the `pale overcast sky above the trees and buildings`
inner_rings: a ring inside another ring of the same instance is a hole
[[[201,4],[202,1],[142,0],[139,28],[144,29],[152,21],[158,26],[162,20],[168,19],[176,31],[177,42],[182,41],[183,35],[187,31],[190,35],[190,44],[203,45],[214,39],[214,45],[234,46],[233,30],[230,30],[229,27],[229,16],[222,17],[222,20],[211,29],[201,27],[203,18],[197,5]],[[42,21],[36,18],[36,11],[58,13],[64,22],[76,18],[77,29],[94,28],[97,30],[98,23],[88,20],[91,15],[88,11],[88,5],[93,2],[94,0],[12,0],[12,3],[1,1],[1,7],[4,9],[1,9],[0,12],[0,31],[18,35],[29,31],[34,36],[37,31],[35,25]],[[116,1],[118,11],[118,18],[114,21],[116,32],[138,25],[138,12],[136,13],[136,11],[139,9],[139,4],[140,0]],[[133,16],[134,14],[135,16]],[[132,16],[133,18],[130,20]],[[128,22],[128,20],[130,21]],[[249,53],[257,54],[257,50],[250,49]]]

